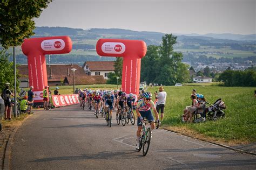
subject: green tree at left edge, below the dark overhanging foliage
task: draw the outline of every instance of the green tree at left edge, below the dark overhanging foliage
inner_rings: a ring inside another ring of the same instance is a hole
[[[4,49],[0,51],[0,90],[4,89],[6,82],[10,83],[10,88],[14,84],[14,63],[8,61],[10,55]],[[17,77],[19,77],[18,73]],[[19,86],[18,83],[16,85]]]

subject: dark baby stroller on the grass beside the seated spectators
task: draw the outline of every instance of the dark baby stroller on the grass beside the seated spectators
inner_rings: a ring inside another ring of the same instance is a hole
[[[207,107],[207,117],[208,119],[212,120],[212,121],[217,121],[217,119],[219,118],[225,118],[225,109],[226,106],[224,104],[224,102],[221,100],[221,98],[219,98],[217,101],[215,101],[213,104],[210,104],[208,102],[206,102],[207,104],[209,104]]]

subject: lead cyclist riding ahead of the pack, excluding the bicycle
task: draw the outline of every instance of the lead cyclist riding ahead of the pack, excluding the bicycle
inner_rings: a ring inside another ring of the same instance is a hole
[[[154,102],[151,100],[152,98],[151,93],[145,92],[142,94],[142,96],[143,98],[141,98],[138,101],[137,107],[136,107],[136,113],[138,115],[138,120],[137,120],[138,130],[137,130],[137,142],[136,142],[137,150],[139,149],[139,138],[140,138],[140,132],[142,131],[143,118],[146,118],[147,121],[154,121],[154,117],[151,112],[151,109],[153,109],[157,122],[160,124],[158,112],[156,110]],[[151,122],[150,125],[151,125],[151,130],[156,128],[156,125],[153,122]],[[152,133],[151,133],[151,136],[152,136]]]

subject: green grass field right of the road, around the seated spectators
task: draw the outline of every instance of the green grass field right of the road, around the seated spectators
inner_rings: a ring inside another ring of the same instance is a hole
[[[256,98],[255,88],[247,87],[217,87],[217,86],[183,86],[164,87],[167,92],[164,125],[178,126],[188,129],[205,137],[216,138],[228,143],[251,143],[256,141]],[[183,109],[191,105],[190,94],[192,89],[203,94],[209,103],[222,98],[226,104],[226,118],[216,122],[208,121],[199,124],[181,122],[179,115]],[[152,87],[149,91],[158,91]],[[179,129],[176,128],[176,129]]]

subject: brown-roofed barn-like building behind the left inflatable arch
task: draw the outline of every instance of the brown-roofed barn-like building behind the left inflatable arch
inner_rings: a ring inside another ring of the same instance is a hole
[[[69,86],[73,85],[73,72],[71,68],[76,68],[75,85],[85,84],[105,84],[106,80],[102,75],[89,76],[86,75],[84,69],[73,64],[46,65],[48,86]],[[20,78],[28,78],[28,65],[18,66]]]

